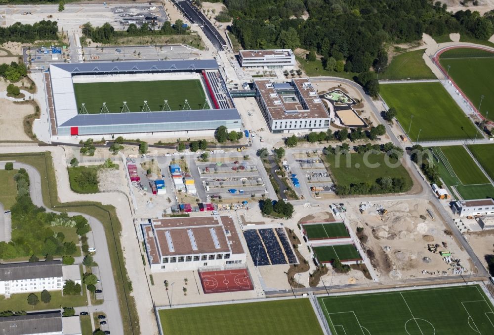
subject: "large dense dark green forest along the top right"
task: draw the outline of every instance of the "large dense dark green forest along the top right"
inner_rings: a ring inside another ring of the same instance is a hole
[[[386,42],[456,32],[487,40],[494,33],[494,10],[484,16],[470,10],[452,14],[445,4],[430,0],[224,0],[224,4],[233,17],[232,33],[245,49],[314,49],[326,60],[345,61],[345,70],[353,72],[383,68]],[[302,18],[305,11],[307,20]]]

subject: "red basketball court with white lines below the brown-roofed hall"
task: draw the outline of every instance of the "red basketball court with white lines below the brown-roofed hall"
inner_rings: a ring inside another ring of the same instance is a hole
[[[250,291],[254,289],[246,268],[199,272],[204,293]]]

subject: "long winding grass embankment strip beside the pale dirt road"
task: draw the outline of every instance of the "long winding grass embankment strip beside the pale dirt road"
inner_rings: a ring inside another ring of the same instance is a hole
[[[139,334],[139,317],[135,307],[134,297],[130,296],[132,283],[128,280],[125,269],[120,233],[122,225],[117,217],[115,207],[102,205],[99,202],[78,201],[61,203],[58,201],[56,177],[50,152],[2,154],[0,160],[15,160],[35,167],[41,174],[41,192],[46,207],[55,210],[67,210],[88,214],[99,220],[104,228],[110,260],[115,276],[115,286],[119,296],[119,306],[122,314],[124,329],[128,334]]]

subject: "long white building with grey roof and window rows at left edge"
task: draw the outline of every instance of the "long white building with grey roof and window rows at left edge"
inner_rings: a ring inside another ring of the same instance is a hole
[[[0,264],[0,295],[63,288],[62,261]]]

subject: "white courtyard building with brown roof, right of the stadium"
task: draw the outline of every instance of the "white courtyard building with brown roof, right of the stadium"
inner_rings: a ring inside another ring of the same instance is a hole
[[[272,133],[325,131],[329,128],[328,109],[309,79],[290,83],[254,80],[256,99]]]

